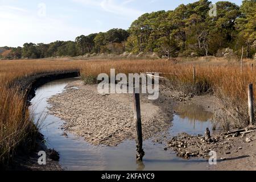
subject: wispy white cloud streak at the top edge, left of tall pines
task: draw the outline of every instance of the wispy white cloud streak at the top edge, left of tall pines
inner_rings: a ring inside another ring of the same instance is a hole
[[[133,8],[125,6],[128,3],[133,2],[135,0],[126,0],[126,1],[123,1],[122,3],[117,3],[115,0],[96,0],[96,1],[73,0],[73,1],[82,3],[84,5],[97,6],[106,12],[124,16],[129,19],[137,18],[138,16],[140,16],[144,13],[137,9],[133,9]]]

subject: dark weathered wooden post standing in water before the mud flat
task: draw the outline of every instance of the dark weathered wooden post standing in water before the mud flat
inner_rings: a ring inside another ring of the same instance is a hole
[[[135,93],[133,90],[133,105],[134,105],[134,121],[136,127],[136,147],[138,154],[136,155],[137,160],[142,161],[145,155],[142,148],[142,126],[141,126],[141,104],[139,102],[139,93]]]

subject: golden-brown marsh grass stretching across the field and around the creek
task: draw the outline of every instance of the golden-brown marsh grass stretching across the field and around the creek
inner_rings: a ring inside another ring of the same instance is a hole
[[[10,88],[16,79],[30,77],[38,73],[80,70],[85,82],[94,83],[100,73],[171,73],[167,76],[174,89],[185,93],[214,93],[224,104],[221,117],[222,126],[243,127],[248,123],[247,85],[254,84],[256,98],[256,69],[251,69],[253,60],[246,60],[242,74],[237,61],[223,59],[180,61],[168,60],[16,60],[0,61],[0,163],[8,161],[15,149],[32,141],[36,133],[24,98],[18,86]],[[193,80],[193,65],[196,80]],[[223,113],[225,117],[223,117]],[[217,117],[216,117],[217,118]]]

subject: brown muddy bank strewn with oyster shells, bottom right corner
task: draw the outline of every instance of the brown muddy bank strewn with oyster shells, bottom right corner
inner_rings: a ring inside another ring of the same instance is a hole
[[[256,169],[256,127],[248,127],[244,131],[192,136],[181,133],[168,142],[170,150],[185,159],[209,159],[209,152],[217,154],[217,164],[209,169],[214,170],[255,170]],[[247,132],[250,133],[247,133]],[[246,134],[245,134],[246,133]],[[166,148],[166,150],[167,150]]]

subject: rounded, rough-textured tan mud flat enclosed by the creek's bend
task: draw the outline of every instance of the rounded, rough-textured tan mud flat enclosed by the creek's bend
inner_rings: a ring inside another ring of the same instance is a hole
[[[135,138],[132,94],[102,95],[97,85],[76,81],[48,102],[49,113],[65,121],[64,131],[86,142],[117,146],[123,140]],[[172,115],[165,114],[146,94],[141,97],[141,112],[143,139],[167,131],[171,125]]]

